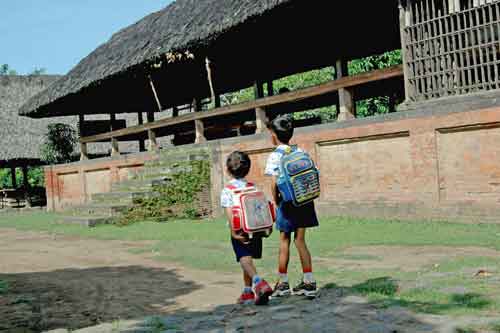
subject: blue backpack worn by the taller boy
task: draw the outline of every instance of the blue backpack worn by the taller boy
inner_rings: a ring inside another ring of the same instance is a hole
[[[299,207],[318,198],[319,171],[309,154],[297,150],[297,146],[276,151],[283,155],[276,181],[282,200]]]

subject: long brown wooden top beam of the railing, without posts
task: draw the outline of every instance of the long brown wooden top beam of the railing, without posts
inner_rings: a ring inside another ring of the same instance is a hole
[[[164,118],[153,123],[147,123],[142,126],[132,126],[113,133],[103,133],[91,137],[81,138],[82,142],[96,142],[109,139],[111,137],[120,137],[130,134],[145,132],[150,129],[176,126],[178,124],[191,122],[194,120],[207,119],[212,117],[222,117],[236,114],[243,111],[249,111],[258,107],[268,107],[290,102],[301,101],[307,98],[330,94],[341,88],[350,88],[358,85],[367,84],[374,81],[381,81],[395,77],[403,76],[403,67],[401,65],[379,69],[371,72],[347,76],[338,80],[330,81],[318,86],[299,89],[284,94],[269,96],[255,101],[249,101],[236,105],[223,106],[208,112],[193,112],[176,118]]]

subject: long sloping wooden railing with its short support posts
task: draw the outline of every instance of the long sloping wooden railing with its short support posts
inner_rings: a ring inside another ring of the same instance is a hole
[[[87,158],[87,144],[91,142],[102,142],[105,140],[110,140],[111,142],[115,142],[113,150],[117,149],[116,141],[120,137],[137,135],[141,133],[148,133],[148,139],[150,141],[150,150],[154,150],[157,148],[156,144],[156,134],[155,130],[164,129],[164,128],[172,128],[178,126],[180,124],[185,124],[189,122],[195,123],[196,130],[196,141],[203,142],[204,139],[204,125],[203,120],[214,118],[214,117],[222,117],[227,115],[234,115],[241,112],[247,112],[250,110],[256,110],[256,124],[257,124],[257,132],[261,132],[264,130],[265,124],[265,108],[276,106],[280,104],[286,104],[290,102],[297,102],[301,100],[305,100],[311,97],[326,95],[332,92],[339,91],[350,91],[355,86],[364,85],[367,83],[381,81],[396,77],[403,76],[403,67],[401,65],[393,66],[385,69],[375,70],[371,72],[366,72],[353,76],[345,76],[339,79],[309,87],[304,88],[292,92],[283,93],[275,96],[263,97],[257,100],[228,105],[213,109],[211,111],[206,112],[193,112],[190,114],[185,114],[178,117],[165,118],[158,121],[148,122],[146,124],[132,126],[124,129],[119,129],[116,131],[110,131],[107,133],[102,133],[98,135],[82,137],[80,139],[81,151],[82,151],[82,159]],[[352,94],[348,94],[348,96],[352,97]],[[352,105],[351,101],[341,101],[342,103],[347,105]]]

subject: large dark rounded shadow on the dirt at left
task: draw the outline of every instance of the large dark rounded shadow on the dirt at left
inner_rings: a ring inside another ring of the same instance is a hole
[[[0,332],[77,329],[160,313],[200,288],[175,270],[141,266],[0,274]],[[22,330],[24,329],[24,330]]]

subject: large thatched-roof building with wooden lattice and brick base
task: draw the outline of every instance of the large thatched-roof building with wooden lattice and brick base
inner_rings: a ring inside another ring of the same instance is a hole
[[[220,161],[231,149],[248,151],[261,166],[271,149],[262,134],[269,117],[337,104],[336,123],[297,134],[327,165],[322,212],[500,216],[500,170],[491,162],[500,155],[488,144],[500,135],[499,10],[494,0],[178,0],[116,33],[20,112],[81,120],[108,114],[109,131],[81,138],[82,159],[95,142],[111,145],[111,165],[120,141],[147,139],[155,151],[158,137],[176,135],[174,144],[208,140]],[[396,49],[402,65],[349,75],[349,61]],[[277,79],[325,67],[336,69],[329,82],[271,89]],[[221,95],[248,87],[255,100],[221,105]],[[398,94],[399,112],[356,119],[357,100]],[[137,114],[139,125],[117,129],[122,113]],[[241,134],[245,122],[255,135],[216,140]],[[475,146],[484,155],[474,155]],[[121,161],[113,168],[124,168]],[[89,163],[74,170],[85,173]],[[57,182],[70,169],[50,172]],[[251,177],[267,184],[258,169]]]

